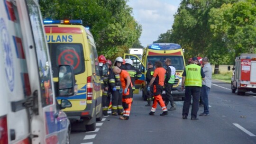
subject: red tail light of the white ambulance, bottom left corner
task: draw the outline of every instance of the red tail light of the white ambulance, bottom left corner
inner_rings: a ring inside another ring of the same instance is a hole
[[[8,144],[7,117],[0,117],[0,144]]]

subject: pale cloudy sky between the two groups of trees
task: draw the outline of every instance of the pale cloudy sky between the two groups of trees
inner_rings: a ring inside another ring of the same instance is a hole
[[[127,4],[133,8],[132,16],[142,26],[139,38],[142,46],[152,44],[160,34],[172,28],[174,14],[180,2],[181,0],[128,0]]]

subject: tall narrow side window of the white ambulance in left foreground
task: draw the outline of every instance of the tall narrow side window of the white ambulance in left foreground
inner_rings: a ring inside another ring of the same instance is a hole
[[[27,0],[27,9],[31,22],[32,35],[34,37],[34,45],[37,54],[37,63],[39,69],[40,87],[42,106],[46,107],[54,102],[51,70],[49,66],[49,57],[47,54],[46,39],[42,26],[42,19],[39,9],[34,0]]]

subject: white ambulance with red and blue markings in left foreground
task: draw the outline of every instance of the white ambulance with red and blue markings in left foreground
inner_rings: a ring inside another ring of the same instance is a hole
[[[37,0],[0,0],[0,144],[69,144],[70,122],[55,94],[75,92],[74,72],[52,68]]]

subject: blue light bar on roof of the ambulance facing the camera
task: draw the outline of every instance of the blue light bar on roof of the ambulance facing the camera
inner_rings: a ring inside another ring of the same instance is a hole
[[[172,43],[156,43],[148,45],[148,49],[154,50],[175,50],[181,49],[181,45],[172,44]]]

